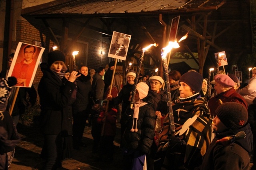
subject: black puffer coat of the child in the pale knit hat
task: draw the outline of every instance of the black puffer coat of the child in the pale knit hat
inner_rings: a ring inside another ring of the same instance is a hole
[[[130,131],[133,123],[135,124],[132,118],[133,110],[130,108],[127,109],[122,116],[123,119],[125,119],[125,132],[123,135],[124,147],[127,149],[136,149],[141,155],[148,154],[155,136],[154,128],[156,125],[156,115],[154,109],[149,104],[140,107],[137,120],[137,132]]]

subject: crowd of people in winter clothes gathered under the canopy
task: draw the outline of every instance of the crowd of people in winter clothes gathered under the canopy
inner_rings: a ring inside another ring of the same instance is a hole
[[[55,50],[48,54],[48,63],[41,64],[43,170],[61,167],[63,159],[72,158],[72,149],[86,147],[82,136],[89,117],[92,153],[108,162],[114,159],[116,123],[120,122],[125,170],[246,170],[252,159],[256,162],[256,67],[248,85],[240,88],[234,74],[216,74],[209,82],[195,70],[182,75],[172,70],[169,83],[148,74],[140,75],[136,84],[133,70],[125,81],[113,75],[114,62],[106,72],[103,67],[94,70],[86,65],[70,72],[65,62],[64,53]],[[6,148],[6,141],[18,143],[12,129],[8,134],[14,138],[1,136],[1,148]],[[4,164],[6,153],[12,149],[0,150],[0,166],[8,164]]]

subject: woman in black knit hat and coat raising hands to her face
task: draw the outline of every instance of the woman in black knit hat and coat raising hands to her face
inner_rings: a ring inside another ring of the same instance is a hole
[[[71,129],[68,120],[68,103],[76,85],[74,81],[80,75],[73,71],[68,80],[64,78],[67,67],[63,52],[55,50],[48,54],[48,65],[41,64],[43,76],[38,85],[41,113],[40,127],[44,135],[41,156],[45,158],[44,170],[53,170],[61,166],[62,137]]]

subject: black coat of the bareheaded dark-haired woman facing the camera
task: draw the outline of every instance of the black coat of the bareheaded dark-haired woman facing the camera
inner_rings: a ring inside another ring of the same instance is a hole
[[[84,76],[81,74],[78,77],[78,81],[76,84],[76,100],[72,105],[72,113],[74,114],[85,114],[88,113],[91,109],[91,104],[89,100],[89,92],[92,89],[92,85],[90,82],[90,75]]]

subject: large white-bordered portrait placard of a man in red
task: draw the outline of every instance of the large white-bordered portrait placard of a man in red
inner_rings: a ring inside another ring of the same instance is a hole
[[[31,87],[39,61],[44,52],[43,47],[19,42],[14,53],[8,77],[17,78],[15,86]]]

